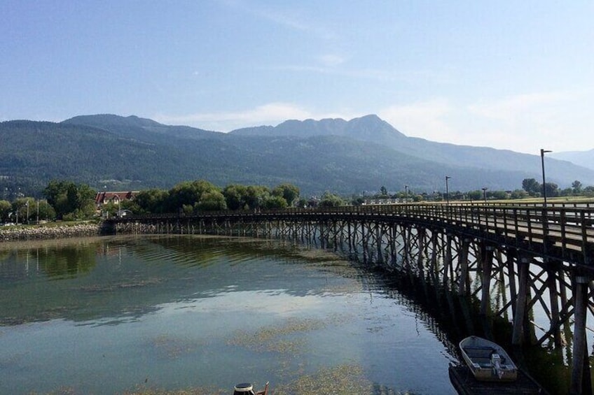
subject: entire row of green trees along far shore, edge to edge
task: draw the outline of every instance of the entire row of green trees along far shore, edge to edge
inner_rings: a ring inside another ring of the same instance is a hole
[[[578,180],[572,187],[560,189],[558,185],[547,182],[546,196],[594,196],[594,187],[583,187]],[[474,191],[415,193],[410,190],[389,194],[381,187],[378,194],[368,197],[375,199],[392,198],[399,201],[443,201],[482,199],[523,199],[529,196],[541,197],[542,185],[534,178],[525,178],[522,189],[513,191],[489,191],[487,188]],[[0,200],[0,222],[19,224],[52,220],[88,220],[97,217],[97,191],[86,184],[76,184],[67,180],[52,180],[43,189],[45,199],[16,196],[13,201]],[[342,206],[365,203],[365,196],[352,196],[350,201],[330,192],[319,199],[305,199],[299,188],[290,183],[276,187],[262,185],[230,184],[217,187],[207,180],[184,181],[171,189],[146,189],[140,191],[132,200],[119,203],[106,203],[100,209],[104,215],[118,215],[119,210],[130,210],[134,214],[179,213],[191,215],[213,210],[258,210],[307,206]]]

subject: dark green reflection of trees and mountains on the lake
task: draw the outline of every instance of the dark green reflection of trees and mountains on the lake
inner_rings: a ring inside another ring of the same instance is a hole
[[[54,318],[113,325],[163,303],[229,292],[230,284],[234,291],[268,289],[270,275],[277,278],[275,285],[305,294],[311,288],[302,290],[295,281],[305,284],[315,278],[299,273],[301,263],[319,261],[270,240],[195,236],[127,236],[60,245],[48,241],[4,251],[0,300],[6,302],[0,306],[0,324],[6,325]],[[262,264],[267,259],[274,264]],[[235,275],[239,272],[230,266],[243,262],[244,274]],[[324,262],[314,270],[334,271],[331,261]],[[286,275],[289,268],[299,276]]]

